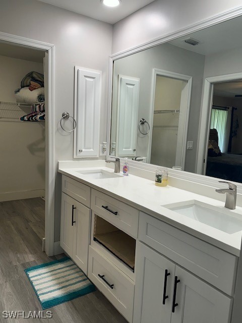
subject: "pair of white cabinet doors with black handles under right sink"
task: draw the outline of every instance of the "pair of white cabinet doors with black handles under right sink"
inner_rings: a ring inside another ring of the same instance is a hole
[[[142,242],[136,245],[133,323],[228,323],[232,298]]]

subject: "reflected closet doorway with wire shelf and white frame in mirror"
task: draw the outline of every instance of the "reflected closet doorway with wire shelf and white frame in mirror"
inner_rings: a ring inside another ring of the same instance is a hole
[[[192,78],[158,69],[153,77],[149,162],[184,169]]]

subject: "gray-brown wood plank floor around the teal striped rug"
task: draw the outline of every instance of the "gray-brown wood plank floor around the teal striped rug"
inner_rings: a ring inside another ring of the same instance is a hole
[[[99,291],[48,309],[53,315],[49,319],[3,317],[3,311],[42,310],[24,269],[64,256],[47,257],[43,237],[41,198],[0,202],[0,322],[127,323]]]

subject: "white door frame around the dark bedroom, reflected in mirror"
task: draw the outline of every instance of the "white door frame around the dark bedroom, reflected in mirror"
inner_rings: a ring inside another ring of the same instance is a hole
[[[242,79],[242,72],[232,73],[226,75],[218,75],[207,77],[204,79],[203,87],[203,99],[202,107],[200,112],[200,127],[199,127],[199,136],[198,136],[198,153],[197,153],[197,162],[196,162],[196,173],[205,175],[206,165],[204,160],[207,160],[208,156],[208,139],[209,139],[209,126],[211,120],[211,108],[213,101],[213,86],[214,83],[222,83],[228,81],[235,81]]]

